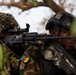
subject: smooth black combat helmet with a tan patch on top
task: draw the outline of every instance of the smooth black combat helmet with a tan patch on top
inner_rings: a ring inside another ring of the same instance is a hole
[[[67,12],[56,13],[46,24],[46,30],[51,30],[54,25],[70,29],[71,23],[75,17]]]

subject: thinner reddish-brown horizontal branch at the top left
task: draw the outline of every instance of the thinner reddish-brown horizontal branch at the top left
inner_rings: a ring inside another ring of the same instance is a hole
[[[35,7],[35,6],[33,6],[32,2],[27,2],[26,5],[23,5],[22,2],[10,2],[10,3],[0,2],[0,6],[2,6],[2,5],[15,6],[15,7],[22,9],[22,11],[29,10],[30,8]],[[43,2],[38,2],[38,6],[46,6],[46,5]],[[36,7],[38,7],[38,6],[36,6]]]

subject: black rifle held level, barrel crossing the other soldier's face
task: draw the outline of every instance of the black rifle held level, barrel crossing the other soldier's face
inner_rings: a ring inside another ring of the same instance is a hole
[[[4,42],[9,44],[15,44],[15,43],[25,43],[25,44],[36,44],[38,41],[44,40],[51,40],[51,41],[57,41],[58,39],[74,39],[76,37],[74,36],[56,36],[52,37],[49,34],[38,34],[37,32],[30,32],[30,33],[23,33],[23,34],[15,34],[5,37]],[[44,43],[41,43],[44,44]]]

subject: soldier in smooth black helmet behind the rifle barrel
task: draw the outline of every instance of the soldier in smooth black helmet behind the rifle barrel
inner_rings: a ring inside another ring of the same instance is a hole
[[[46,30],[53,37],[70,36],[70,29],[75,17],[67,12],[56,13],[46,24]],[[49,42],[48,42],[49,43]],[[76,59],[75,39],[58,39],[51,42],[51,45],[43,52],[44,73],[42,75],[75,75],[72,69],[64,63],[63,53],[57,51],[65,50]],[[63,60],[62,60],[63,59]],[[67,60],[67,59],[66,59]],[[71,64],[70,64],[71,65]],[[48,66],[48,67],[47,67]]]

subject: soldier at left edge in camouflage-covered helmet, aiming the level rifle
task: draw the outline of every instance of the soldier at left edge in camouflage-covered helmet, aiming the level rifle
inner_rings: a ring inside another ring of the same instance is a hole
[[[19,75],[18,56],[4,44],[4,38],[10,35],[8,30],[19,28],[19,24],[11,14],[0,12],[0,65],[2,65],[0,75]]]

